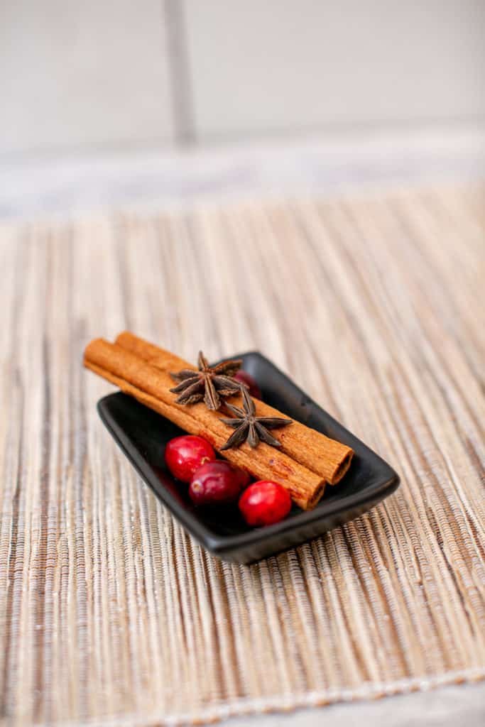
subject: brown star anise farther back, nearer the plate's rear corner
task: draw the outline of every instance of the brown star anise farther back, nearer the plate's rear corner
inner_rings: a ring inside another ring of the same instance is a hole
[[[222,361],[217,366],[209,366],[207,358],[199,351],[197,359],[199,371],[182,369],[170,374],[180,384],[170,391],[178,394],[178,404],[194,404],[197,401],[206,403],[207,409],[219,409],[221,398],[239,393],[241,385],[231,377],[239,371],[242,361]]]

